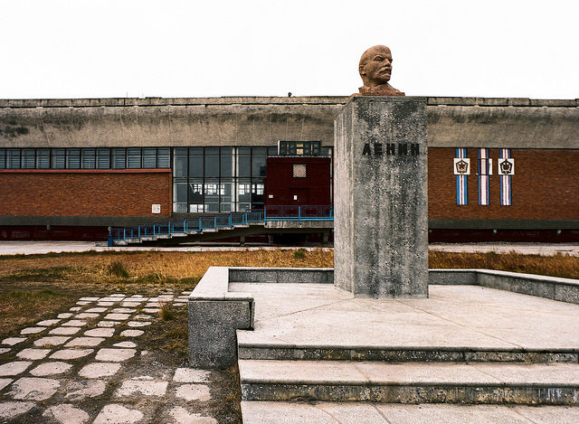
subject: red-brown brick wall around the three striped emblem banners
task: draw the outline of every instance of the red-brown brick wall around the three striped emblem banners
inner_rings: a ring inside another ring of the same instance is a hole
[[[579,150],[511,149],[515,175],[511,206],[500,205],[497,174],[498,149],[490,149],[490,204],[479,205],[478,150],[468,149],[469,204],[456,204],[456,175],[452,172],[453,148],[428,149],[428,217],[431,219],[579,219]]]

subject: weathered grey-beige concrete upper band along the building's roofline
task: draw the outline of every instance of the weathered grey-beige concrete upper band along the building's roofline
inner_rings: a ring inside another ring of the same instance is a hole
[[[347,97],[2,99],[6,147],[333,143]],[[428,98],[429,146],[576,148],[576,99]]]

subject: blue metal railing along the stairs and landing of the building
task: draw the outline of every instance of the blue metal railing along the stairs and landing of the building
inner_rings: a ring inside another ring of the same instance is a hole
[[[264,209],[248,209],[245,212],[201,215],[179,221],[168,221],[137,227],[111,228],[109,246],[115,241],[156,240],[173,235],[193,234],[203,230],[233,228],[235,225],[263,223],[267,221],[334,221],[332,206],[266,206]]]

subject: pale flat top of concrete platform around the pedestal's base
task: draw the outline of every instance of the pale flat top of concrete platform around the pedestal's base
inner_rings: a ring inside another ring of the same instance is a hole
[[[229,290],[255,299],[255,329],[237,332],[240,349],[549,352],[570,353],[575,363],[579,353],[579,305],[488,287],[431,286],[429,299],[381,300],[328,284],[230,283]]]

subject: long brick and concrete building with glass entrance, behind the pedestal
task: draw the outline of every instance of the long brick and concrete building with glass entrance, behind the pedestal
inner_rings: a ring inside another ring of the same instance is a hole
[[[0,240],[103,239],[262,208],[273,188],[291,204],[308,187],[268,173],[291,157],[324,159],[308,165],[329,172],[317,194],[299,197],[331,202],[346,101],[0,100]],[[431,240],[579,240],[578,100],[427,98],[427,113]]]

